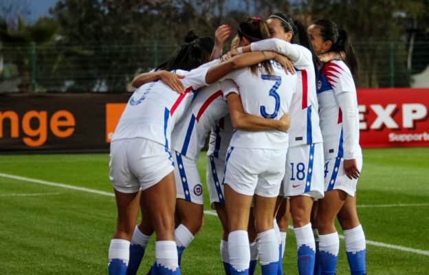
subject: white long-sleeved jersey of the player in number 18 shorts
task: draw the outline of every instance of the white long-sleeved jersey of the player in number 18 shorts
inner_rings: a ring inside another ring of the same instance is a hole
[[[252,51],[274,50],[291,56],[296,68],[296,93],[292,97],[289,115],[289,146],[322,142],[319,126],[316,74],[311,52],[301,45],[281,39],[265,39],[250,45]]]

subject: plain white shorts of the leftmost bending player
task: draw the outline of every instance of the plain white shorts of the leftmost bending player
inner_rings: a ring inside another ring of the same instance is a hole
[[[157,184],[174,163],[164,145],[138,137],[111,142],[109,167],[113,188],[133,193]]]

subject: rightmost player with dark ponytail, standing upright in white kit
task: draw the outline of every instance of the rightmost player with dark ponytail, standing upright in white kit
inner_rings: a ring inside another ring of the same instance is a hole
[[[325,197],[318,202],[316,225],[322,272],[335,272],[338,257],[338,217],[344,230],[351,274],[366,274],[365,236],[356,211],[355,192],[362,168],[358,102],[353,75],[358,61],[351,41],[336,23],[318,20],[308,28],[318,54],[344,52],[342,61],[323,65],[318,81],[320,126],[325,150]]]

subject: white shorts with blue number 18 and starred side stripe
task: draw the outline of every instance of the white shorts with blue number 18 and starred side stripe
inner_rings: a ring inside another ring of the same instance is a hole
[[[324,194],[323,145],[303,144],[288,149],[283,197],[305,195],[320,199]]]

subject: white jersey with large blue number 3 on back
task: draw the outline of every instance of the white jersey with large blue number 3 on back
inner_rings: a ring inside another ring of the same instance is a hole
[[[292,95],[296,91],[296,75],[286,74],[283,67],[272,61],[273,74],[261,67],[256,74],[250,68],[239,69],[225,78],[239,86],[245,113],[278,120],[289,111]],[[287,149],[289,138],[281,131],[250,132],[237,129],[230,146],[241,148]]]

